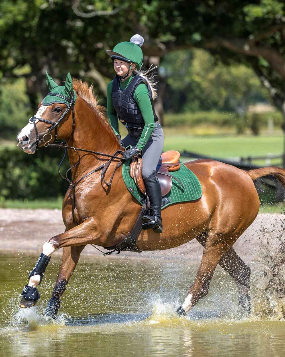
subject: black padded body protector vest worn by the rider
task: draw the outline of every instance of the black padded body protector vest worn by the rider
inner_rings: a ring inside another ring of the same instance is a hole
[[[120,89],[120,77],[118,75],[115,76],[112,88],[112,101],[120,122],[130,129],[141,127],[142,131],[145,122],[134,98],[135,89],[140,83],[144,83],[147,86],[151,100],[152,94],[149,84],[143,77],[138,74],[134,74],[134,78],[124,90]],[[155,113],[152,100],[151,106],[154,114],[154,121],[156,122],[158,121],[158,117]]]

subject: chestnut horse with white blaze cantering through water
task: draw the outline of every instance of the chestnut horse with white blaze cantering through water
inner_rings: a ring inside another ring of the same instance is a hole
[[[141,205],[124,184],[122,167],[117,168],[118,160],[108,161],[105,180],[102,180],[100,170],[96,171],[109,160],[109,157],[98,154],[98,150],[112,157],[121,147],[105,116],[105,108],[98,105],[93,86],[73,78],[71,87],[77,95],[74,106],[67,106],[59,100],[45,106],[40,102],[34,119],[17,135],[18,147],[27,154],[33,154],[36,146],[46,145],[47,133],[50,144],[59,137],[68,147],[86,150],[83,154],[78,154],[76,149],[68,151],[72,182],[77,184],[71,183],[63,200],[62,216],[66,230],[43,245],[43,253],[48,257],[62,248],[61,268],[46,309],[46,315],[53,318],[84,247],[87,244],[101,247],[117,245],[131,231],[141,211]],[[203,246],[195,281],[177,309],[179,316],[186,315],[207,295],[217,265],[233,278],[238,287],[238,303],[250,314],[250,268],[237,255],[233,244],[252,224],[259,211],[254,180],[273,175],[285,187],[285,170],[265,167],[244,171],[211,159],[186,162],[185,165],[201,182],[201,198],[175,203],[162,210],[163,233],[141,231],[137,247],[141,251],[165,250],[194,238]],[[106,185],[106,180],[111,178],[112,187]],[[40,282],[40,275],[34,275],[29,286],[36,287]],[[26,308],[35,303],[22,298],[20,306]]]

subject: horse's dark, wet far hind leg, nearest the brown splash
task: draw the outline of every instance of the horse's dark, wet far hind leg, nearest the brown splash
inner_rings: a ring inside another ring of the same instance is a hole
[[[202,234],[197,237],[197,241],[205,246],[206,235]],[[219,260],[221,266],[236,282],[239,297],[239,305],[248,313],[251,313],[251,304],[249,296],[249,283],[250,283],[250,267],[237,255],[234,248],[231,247]]]

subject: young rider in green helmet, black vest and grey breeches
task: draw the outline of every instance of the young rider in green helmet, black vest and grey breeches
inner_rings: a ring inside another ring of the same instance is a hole
[[[120,144],[127,149],[125,160],[142,155],[142,178],[152,211],[142,217],[142,228],[162,233],[161,188],[156,166],[164,146],[164,132],[155,114],[152,100],[157,97],[153,77],[141,71],[144,39],[140,35],[130,42],[120,42],[113,51],[106,51],[113,60],[116,76],[107,86],[107,112]],[[118,117],[128,135],[121,140]]]

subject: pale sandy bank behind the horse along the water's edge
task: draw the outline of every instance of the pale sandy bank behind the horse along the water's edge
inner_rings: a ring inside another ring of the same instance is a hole
[[[243,260],[250,262],[258,253],[261,245],[266,245],[268,238],[283,234],[285,216],[280,214],[260,213],[253,224],[235,243],[234,248]],[[22,210],[0,209],[1,251],[27,252],[38,254],[43,243],[50,237],[64,231],[61,211],[59,210]],[[285,234],[284,234],[285,238]],[[270,244],[279,245],[279,240]],[[61,250],[57,252],[61,254]],[[102,255],[92,246],[87,245],[82,254]],[[202,246],[193,240],[180,247],[157,252],[121,253],[120,257],[133,258],[164,257],[168,259],[199,260]]]

